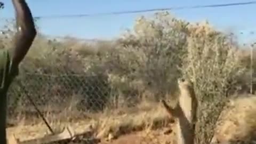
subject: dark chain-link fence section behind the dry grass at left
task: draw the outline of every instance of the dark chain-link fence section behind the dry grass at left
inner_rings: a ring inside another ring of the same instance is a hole
[[[9,91],[9,116],[35,115],[31,97],[42,113],[58,114],[74,107],[83,111],[103,110],[110,97],[107,79],[75,74],[22,74]],[[49,111],[47,107],[52,109]]]

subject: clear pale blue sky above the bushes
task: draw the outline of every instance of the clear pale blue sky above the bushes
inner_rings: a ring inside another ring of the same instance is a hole
[[[250,1],[250,0],[248,0]],[[5,9],[1,17],[14,17],[11,0],[2,0]],[[172,6],[193,6],[219,3],[247,2],[247,0],[27,0],[34,16],[62,14],[90,14],[112,11],[154,9]],[[194,10],[176,10],[172,14],[189,21],[209,20],[221,29],[243,31],[247,39],[249,31],[256,31],[256,5],[205,8]],[[147,13],[146,13],[147,14]],[[100,17],[41,19],[38,25],[42,32],[53,36],[76,36],[81,38],[111,38],[120,31],[131,28],[134,19],[142,15],[124,14]],[[1,18],[0,17],[0,18]]]

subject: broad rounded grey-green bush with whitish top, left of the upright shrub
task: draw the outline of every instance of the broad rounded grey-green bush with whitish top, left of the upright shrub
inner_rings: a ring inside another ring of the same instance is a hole
[[[168,13],[157,13],[151,19],[141,17],[118,39],[113,50],[102,55],[100,69],[115,78],[117,89],[123,86],[124,95],[150,91],[150,99],[159,100],[166,93],[174,93],[177,85],[173,81],[179,76],[177,66],[186,47],[187,24]]]

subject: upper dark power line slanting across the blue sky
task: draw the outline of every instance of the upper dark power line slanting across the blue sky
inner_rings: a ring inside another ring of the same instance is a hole
[[[145,13],[145,12],[156,12],[156,11],[170,11],[170,10],[184,10],[184,9],[202,9],[212,7],[227,7],[236,5],[251,5],[256,4],[256,1],[241,2],[241,3],[227,3],[227,4],[212,4],[212,5],[195,5],[195,6],[178,6],[168,7],[162,9],[145,9],[145,10],[134,10],[134,11],[119,11],[119,12],[106,12],[106,13],[92,13],[92,14],[69,14],[69,15],[45,15],[35,17],[36,19],[54,19],[54,18],[74,18],[74,17],[97,17],[106,15],[121,15],[121,14],[132,14],[132,13]]]

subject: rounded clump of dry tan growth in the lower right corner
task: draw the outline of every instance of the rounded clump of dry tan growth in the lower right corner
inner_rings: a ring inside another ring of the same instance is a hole
[[[212,142],[255,140],[255,104],[255,95],[231,99],[220,115]]]

